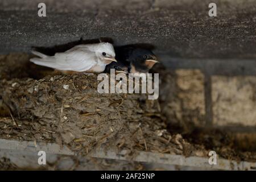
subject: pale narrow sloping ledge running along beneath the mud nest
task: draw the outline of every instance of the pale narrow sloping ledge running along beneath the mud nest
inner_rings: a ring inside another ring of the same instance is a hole
[[[18,142],[16,140],[6,140],[0,139],[0,150],[10,150],[10,151],[27,151],[38,152],[44,150],[46,154],[61,154],[61,155],[74,155],[72,152],[67,150],[66,147],[60,150],[60,146],[53,143],[37,143],[34,142]],[[210,165],[208,163],[208,158],[201,158],[197,156],[191,156],[186,158],[181,155],[170,155],[170,154],[159,154],[152,152],[142,152],[134,155],[134,158],[127,156],[127,151],[122,150],[120,152],[114,151],[102,151],[96,150],[89,156],[93,158],[104,158],[104,159],[115,159],[115,160],[133,160],[134,162],[146,162],[146,163],[158,163],[158,164],[168,164],[168,165],[178,165],[178,166],[188,166],[188,167],[199,167],[207,169],[220,169],[220,170],[255,170],[256,163],[250,162],[236,162],[234,160],[218,159],[217,165]]]

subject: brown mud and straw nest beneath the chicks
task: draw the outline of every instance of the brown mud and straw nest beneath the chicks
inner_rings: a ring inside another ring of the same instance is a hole
[[[97,75],[51,75],[40,67],[32,69],[29,57],[9,55],[0,61],[0,138],[58,143],[82,155],[98,148],[184,156],[208,156],[216,150],[226,159],[256,161],[255,152],[234,150],[223,134],[225,144],[207,147],[208,133],[199,135],[200,142],[193,142],[191,135],[170,133],[172,118],[164,114],[166,103],[159,103],[167,93],[177,99],[176,78],[168,71],[161,72],[170,79],[168,84],[162,81],[160,99],[147,100],[146,94],[100,94]],[[220,143],[219,138],[214,141]]]

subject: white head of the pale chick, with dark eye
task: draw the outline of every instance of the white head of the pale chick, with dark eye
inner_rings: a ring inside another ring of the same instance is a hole
[[[112,44],[106,42],[98,43],[95,51],[103,63],[110,64],[112,61],[117,62],[117,60],[115,60],[115,51]]]

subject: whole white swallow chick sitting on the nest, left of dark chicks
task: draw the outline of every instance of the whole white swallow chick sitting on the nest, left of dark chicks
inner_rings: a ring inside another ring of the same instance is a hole
[[[115,51],[110,43],[81,44],[68,51],[57,52],[54,56],[32,51],[39,57],[30,59],[32,63],[54,68],[63,73],[101,73],[106,65],[115,60]]]

